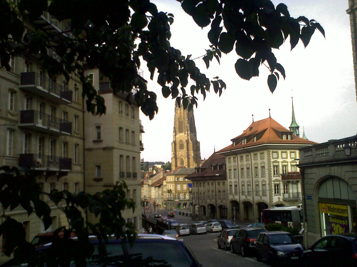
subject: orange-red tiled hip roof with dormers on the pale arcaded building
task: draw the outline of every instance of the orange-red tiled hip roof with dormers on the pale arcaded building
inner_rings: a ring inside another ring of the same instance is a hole
[[[290,140],[283,140],[282,133],[288,133],[291,135]],[[253,137],[256,136],[256,142],[253,142]],[[243,138],[247,139],[247,142],[242,145],[241,140]],[[287,144],[287,145],[315,145],[316,142],[306,140],[294,135],[290,130],[285,129],[278,122],[273,120],[271,117],[263,119],[260,121],[253,122],[241,135],[231,139],[231,141],[236,141],[236,145],[233,143],[217,153],[230,151],[232,149],[240,149],[251,146],[263,145],[263,144]]]

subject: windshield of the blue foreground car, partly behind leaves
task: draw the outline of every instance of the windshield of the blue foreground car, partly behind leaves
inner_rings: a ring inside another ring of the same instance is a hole
[[[175,267],[188,267],[188,261],[185,253],[175,244],[169,243],[134,243],[130,248],[130,244],[126,243],[128,255],[128,265],[124,259],[124,253],[121,244],[107,245],[107,255],[104,258],[106,266],[175,266]],[[94,253],[88,265],[101,265],[98,255],[98,247],[95,246]]]

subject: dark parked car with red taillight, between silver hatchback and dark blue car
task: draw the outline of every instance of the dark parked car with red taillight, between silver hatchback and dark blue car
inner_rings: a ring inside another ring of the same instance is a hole
[[[263,228],[241,228],[231,239],[231,252],[239,251],[242,257],[248,254],[255,255],[255,242],[258,235],[262,232],[267,232]]]

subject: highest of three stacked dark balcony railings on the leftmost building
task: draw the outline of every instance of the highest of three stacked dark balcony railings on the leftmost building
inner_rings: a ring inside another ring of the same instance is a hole
[[[20,88],[57,104],[72,103],[72,91],[36,72],[22,72]]]

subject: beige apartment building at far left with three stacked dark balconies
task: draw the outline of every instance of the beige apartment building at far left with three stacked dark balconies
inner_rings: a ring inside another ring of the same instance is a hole
[[[25,32],[62,32],[65,22],[48,20],[48,16],[45,12],[38,20],[25,21]],[[54,51],[48,54],[57,60]],[[10,71],[0,69],[1,166],[33,171],[46,193],[52,189],[83,191],[84,128],[79,79],[75,74],[70,75],[69,82],[63,75],[50,79],[38,58],[31,55],[11,57],[10,66]],[[51,208],[52,225],[47,230],[35,213],[28,216],[20,208],[5,212],[24,225],[29,242],[41,232],[68,225],[62,211],[48,197],[43,200]]]

